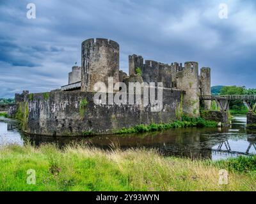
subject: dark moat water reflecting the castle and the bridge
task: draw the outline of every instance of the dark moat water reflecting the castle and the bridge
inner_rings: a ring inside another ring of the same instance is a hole
[[[256,131],[246,129],[246,116],[236,115],[228,128],[179,128],[163,132],[90,136],[86,138],[26,136],[17,129],[15,120],[0,117],[0,146],[29,141],[35,145],[86,143],[102,149],[143,147],[156,149],[164,156],[195,159],[227,159],[256,154]]]

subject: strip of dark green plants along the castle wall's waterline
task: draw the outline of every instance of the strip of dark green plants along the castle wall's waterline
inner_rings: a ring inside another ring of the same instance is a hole
[[[143,133],[148,131],[161,131],[170,128],[188,128],[188,127],[198,127],[198,128],[215,128],[217,127],[217,122],[207,121],[202,118],[189,118],[182,116],[182,120],[175,120],[174,122],[164,123],[164,124],[149,124],[149,125],[138,125],[132,128],[122,128],[115,131],[115,134],[124,133]]]

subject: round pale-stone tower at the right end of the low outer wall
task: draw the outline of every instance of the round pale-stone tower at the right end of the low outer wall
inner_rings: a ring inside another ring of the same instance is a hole
[[[186,92],[183,94],[183,113],[199,117],[198,62],[185,62],[184,68],[177,73],[177,88]]]

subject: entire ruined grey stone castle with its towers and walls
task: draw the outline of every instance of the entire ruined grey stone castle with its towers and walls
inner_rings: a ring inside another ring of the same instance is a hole
[[[199,77],[198,62],[185,62],[182,67],[178,62],[144,62],[143,57],[130,55],[128,76],[119,70],[118,43],[104,38],[88,39],[81,46],[81,68],[72,68],[68,85],[61,91],[17,94],[17,106],[8,114],[21,120],[24,132],[49,136],[109,134],[139,124],[171,122],[180,119],[182,113],[199,117],[200,90],[207,93],[211,89],[210,71],[202,69]],[[163,109],[152,112],[150,104],[95,105],[94,85],[108,85],[109,77],[114,84],[162,82]]]

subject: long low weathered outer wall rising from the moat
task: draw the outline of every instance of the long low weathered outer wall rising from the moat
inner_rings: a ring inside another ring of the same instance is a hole
[[[47,136],[101,135],[139,124],[171,122],[177,119],[182,91],[164,89],[161,112],[152,112],[150,105],[95,105],[93,95],[73,91],[26,96],[19,104],[22,108],[17,108],[24,115],[22,130]]]

